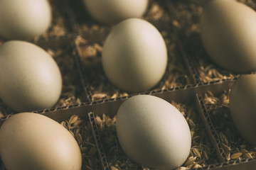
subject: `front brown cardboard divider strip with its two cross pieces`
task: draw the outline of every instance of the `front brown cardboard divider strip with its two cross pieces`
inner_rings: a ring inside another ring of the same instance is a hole
[[[203,125],[206,127],[208,131],[208,138],[211,141],[213,147],[216,149],[218,155],[217,164],[210,164],[203,168],[199,169],[246,169],[255,166],[255,159],[246,159],[241,161],[233,161],[233,162],[223,162],[223,158],[221,158],[222,151],[220,147],[218,147],[218,137],[216,137],[214,133],[214,128],[210,123],[210,119],[206,114],[206,108],[202,102],[201,94],[206,93],[207,91],[213,91],[214,94],[221,94],[221,92],[225,89],[230,88],[232,86],[234,79],[223,80],[223,81],[213,81],[208,84],[194,84],[193,86],[186,86],[183,89],[169,89],[169,91],[154,91],[154,93],[147,93],[154,96],[159,96],[166,101],[176,101],[176,102],[185,102],[185,103],[193,103],[194,106],[198,109],[198,113],[200,113],[200,117],[203,120]],[[87,113],[89,113],[90,121],[92,124],[92,128],[94,130],[94,137],[97,141],[97,148],[100,154],[101,164],[103,169],[108,169],[107,158],[105,152],[102,147],[102,143],[99,140],[99,134],[97,132],[97,126],[95,125],[95,115],[102,115],[105,113],[106,115],[110,115],[110,117],[114,117],[117,113],[117,109],[121,105],[123,101],[125,101],[130,96],[124,98],[113,98],[111,100],[103,100],[103,101],[95,101],[90,103],[80,103],[75,104],[73,106],[65,106],[59,108],[45,109],[43,111],[35,111],[35,113],[41,113],[46,115],[53,120],[58,121],[59,123],[63,120],[68,120],[71,115],[78,115],[81,119],[87,117]],[[92,114],[95,113],[94,114]],[[4,120],[1,120],[3,122]],[[214,142],[215,140],[215,142]],[[220,157],[219,157],[220,156]]]

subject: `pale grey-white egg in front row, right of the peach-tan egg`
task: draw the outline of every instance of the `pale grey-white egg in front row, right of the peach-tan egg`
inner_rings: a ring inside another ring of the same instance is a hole
[[[127,156],[154,169],[175,169],[186,161],[191,132],[183,115],[167,101],[137,95],[117,111],[116,130]]]

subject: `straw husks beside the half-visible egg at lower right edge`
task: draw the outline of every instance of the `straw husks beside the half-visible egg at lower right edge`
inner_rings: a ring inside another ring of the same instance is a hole
[[[218,134],[220,146],[224,150],[226,161],[256,158],[256,147],[246,142],[238,133],[232,121],[229,108],[230,90],[220,96],[210,91],[204,95],[204,103]]]

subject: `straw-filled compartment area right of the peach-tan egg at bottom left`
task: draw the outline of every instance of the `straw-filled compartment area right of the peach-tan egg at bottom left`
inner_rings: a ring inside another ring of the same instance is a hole
[[[35,113],[36,114],[36,113]],[[60,117],[61,117],[61,113]],[[78,142],[82,154],[82,169],[102,169],[102,157],[99,154],[99,147],[95,137],[95,123],[92,113],[84,113],[82,115],[63,116],[59,119],[59,123],[63,125]],[[55,120],[55,117],[52,117]],[[4,120],[1,120],[3,123]],[[0,159],[0,169],[6,170],[2,160]]]

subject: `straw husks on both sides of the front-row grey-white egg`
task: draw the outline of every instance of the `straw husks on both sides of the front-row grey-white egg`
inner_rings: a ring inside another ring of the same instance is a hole
[[[215,152],[210,145],[205,128],[203,127],[198,114],[194,111],[194,108],[181,103],[172,102],[171,104],[178,108],[178,110],[185,116],[191,129],[192,136],[189,157],[183,166],[178,169],[193,169],[216,163],[217,159],[215,157]],[[122,151],[117,140],[115,116],[114,118],[110,118],[108,115],[102,115],[102,117],[97,116],[95,121],[100,132],[102,146],[109,161],[110,169],[150,170],[147,167],[134,163]]]

